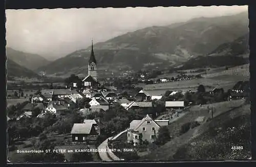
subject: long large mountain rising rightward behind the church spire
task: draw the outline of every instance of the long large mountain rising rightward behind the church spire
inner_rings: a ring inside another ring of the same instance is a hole
[[[168,26],[152,26],[94,45],[99,70],[164,68],[179,65],[191,55],[207,55],[224,43],[248,33],[247,12],[214,18],[196,18]],[[236,27],[236,28],[234,28]],[[77,50],[37,71],[47,74],[84,74],[90,47]],[[99,74],[101,75],[101,74]]]

